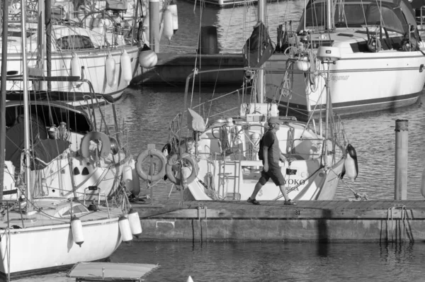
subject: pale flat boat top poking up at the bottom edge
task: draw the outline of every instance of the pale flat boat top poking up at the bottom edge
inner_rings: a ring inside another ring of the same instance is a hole
[[[146,276],[159,268],[158,264],[128,264],[112,262],[79,262],[67,274],[82,281],[145,281]]]

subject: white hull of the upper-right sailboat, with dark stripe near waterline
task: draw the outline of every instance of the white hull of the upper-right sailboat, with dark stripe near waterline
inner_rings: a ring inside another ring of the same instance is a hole
[[[359,55],[358,55],[359,54]],[[424,87],[425,74],[422,71],[425,57],[421,52],[382,51],[379,53],[358,53],[343,56],[331,65],[329,79],[331,103],[339,115],[380,111],[415,103]],[[282,69],[287,57],[274,54],[266,62],[271,69]],[[322,70],[325,65],[320,66]],[[273,96],[280,87],[285,71],[266,74],[268,99],[280,99],[280,108],[288,105],[288,97]],[[306,82],[307,81],[307,82]],[[326,106],[323,77],[316,78],[317,89],[312,91],[305,74],[294,74],[293,94],[289,107],[300,113],[318,115]],[[322,94],[322,95],[321,95]]]

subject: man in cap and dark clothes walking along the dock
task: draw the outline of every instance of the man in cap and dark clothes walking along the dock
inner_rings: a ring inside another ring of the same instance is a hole
[[[259,182],[254,188],[251,197],[248,198],[248,203],[259,205],[259,201],[256,201],[256,195],[259,193],[264,184],[267,183],[268,179],[273,180],[276,186],[279,186],[280,191],[285,197],[284,205],[296,205],[297,203],[290,201],[288,193],[285,189],[285,178],[283,177],[282,171],[279,167],[279,159],[285,162],[285,156],[280,152],[278,137],[276,131],[280,128],[280,120],[278,117],[272,117],[268,119],[268,130],[263,136],[263,171],[261,171],[261,177]],[[261,150],[261,148],[260,148]]]

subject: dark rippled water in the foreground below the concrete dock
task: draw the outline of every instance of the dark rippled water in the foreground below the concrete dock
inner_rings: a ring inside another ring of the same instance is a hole
[[[145,281],[424,281],[425,244],[133,242],[113,262],[159,264]],[[74,281],[67,272],[17,281]]]

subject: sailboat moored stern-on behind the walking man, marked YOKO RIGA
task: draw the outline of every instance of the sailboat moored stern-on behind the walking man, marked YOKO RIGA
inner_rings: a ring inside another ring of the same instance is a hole
[[[304,123],[292,116],[279,116],[276,103],[264,102],[264,74],[268,69],[262,64],[273,52],[273,44],[261,17],[263,4],[263,1],[259,4],[259,22],[244,47],[249,67],[241,69],[245,72],[242,89],[213,96],[186,110],[188,101],[198,100],[189,93],[191,80],[198,74],[212,71],[189,74],[185,110],[171,120],[169,142],[162,150],[167,159],[161,160],[157,152],[152,152],[158,159],[155,176],[165,173],[166,179],[181,190],[182,200],[246,201],[263,169],[258,154],[259,141],[268,130],[269,118],[278,118],[283,123],[276,135],[280,152],[286,158],[280,169],[289,198],[312,201],[331,200],[335,196],[339,179],[344,174],[348,139],[341,120],[331,113],[331,104],[323,112],[323,122],[309,120]],[[333,64],[339,59],[333,51],[324,50],[324,54],[331,53],[321,57],[324,64]],[[234,100],[238,103],[233,103]],[[203,113],[214,114],[203,117]],[[147,169],[148,165],[145,171]],[[256,199],[285,200],[271,181],[261,188]]]

